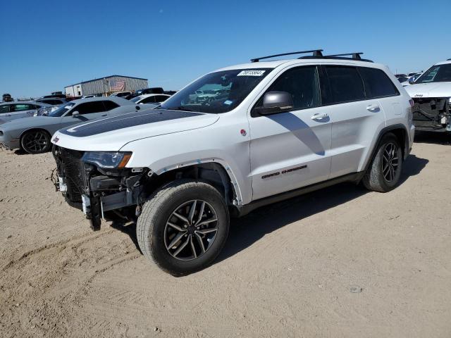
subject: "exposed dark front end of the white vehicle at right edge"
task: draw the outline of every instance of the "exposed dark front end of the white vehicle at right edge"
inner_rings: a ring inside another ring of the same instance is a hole
[[[416,130],[451,132],[449,97],[414,97],[412,107]]]

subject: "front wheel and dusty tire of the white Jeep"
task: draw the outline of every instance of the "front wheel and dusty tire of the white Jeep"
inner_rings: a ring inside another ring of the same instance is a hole
[[[223,196],[203,181],[178,180],[157,190],[137,221],[144,256],[171,275],[206,268],[226,243],[229,214]]]

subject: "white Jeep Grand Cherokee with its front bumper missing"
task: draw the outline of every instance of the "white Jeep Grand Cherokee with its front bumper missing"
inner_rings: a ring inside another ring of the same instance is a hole
[[[359,54],[308,52],[216,70],[156,110],[59,130],[56,186],[94,230],[137,221],[142,253],[173,275],[214,261],[230,215],[338,182],[388,192],[414,138],[409,95]],[[199,90],[219,94],[190,99]]]

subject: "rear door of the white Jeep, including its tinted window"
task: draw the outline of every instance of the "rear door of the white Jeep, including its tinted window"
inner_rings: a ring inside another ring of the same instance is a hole
[[[323,67],[330,86],[330,178],[333,178],[361,170],[374,137],[385,127],[385,114],[376,97],[367,97],[357,67]]]

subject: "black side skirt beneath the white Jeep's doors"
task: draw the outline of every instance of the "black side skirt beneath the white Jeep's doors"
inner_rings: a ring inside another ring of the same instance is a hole
[[[326,187],[330,187],[331,185],[335,185],[342,182],[354,182],[359,183],[360,180],[364,177],[365,172],[359,172],[359,173],[352,173],[343,175],[340,177],[335,177],[331,180],[327,180],[324,182],[319,182],[315,184],[308,185],[307,187],[302,187],[295,190],[290,190],[289,192],[283,192],[281,194],[277,194],[274,196],[268,196],[263,199],[257,199],[256,201],[252,201],[249,204],[246,204],[244,206],[237,207],[237,217],[241,217],[244,215],[247,215],[251,211],[260,208],[261,206],[267,206],[268,204],[277,203],[280,201],[284,201],[285,199],[292,199],[293,197],[308,194],[309,192],[314,192],[319,189],[323,189]]]

